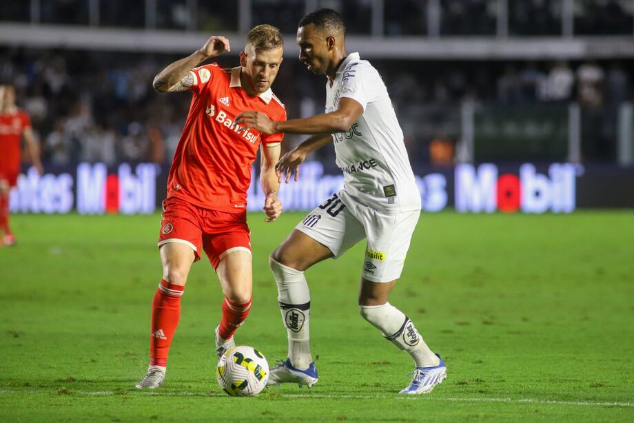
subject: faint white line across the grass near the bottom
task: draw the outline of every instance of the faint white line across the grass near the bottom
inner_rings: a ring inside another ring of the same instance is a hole
[[[44,392],[44,391],[39,391]],[[46,391],[47,393],[49,391]],[[1,389],[3,393],[23,393],[21,390]],[[165,392],[165,391],[70,391],[69,393],[77,393],[79,395],[90,396],[110,396],[119,394],[132,395],[150,395],[161,397],[225,397],[223,393],[196,393],[190,391],[181,392]],[[592,401],[558,401],[558,400],[540,400],[538,398],[456,398],[456,397],[421,397],[420,395],[328,395],[322,393],[282,393],[278,394],[281,398],[329,398],[332,400],[424,400],[424,401],[450,401],[450,402],[507,402],[510,404],[555,404],[555,405],[571,405],[571,406],[616,406],[616,407],[634,407],[634,402],[592,402]]]

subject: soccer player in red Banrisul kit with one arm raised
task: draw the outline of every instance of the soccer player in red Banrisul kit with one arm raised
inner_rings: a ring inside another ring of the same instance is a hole
[[[277,120],[285,107],[271,85],[282,63],[283,41],[271,25],[249,31],[237,68],[199,63],[229,51],[225,37],[211,37],[192,55],[175,61],[154,78],[159,92],[193,94],[181,141],[167,179],[159,251],[163,280],[152,302],[150,367],[137,388],[158,388],[165,380],[167,353],[181,313],[181,296],[192,263],[205,251],[225,298],[215,330],[216,354],[234,347],[234,333],[249,314],[252,258],[247,226],[247,188],[260,149],[260,185],[267,222],[282,211],[275,165],[282,134],[260,134],[234,124],[255,108]]]

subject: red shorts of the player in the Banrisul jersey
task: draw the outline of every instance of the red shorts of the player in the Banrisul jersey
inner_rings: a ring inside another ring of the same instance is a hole
[[[163,220],[159,247],[167,243],[183,243],[201,259],[201,246],[214,269],[218,262],[233,251],[251,254],[251,232],[246,211],[227,213],[203,209],[183,200],[168,198],[163,201]]]

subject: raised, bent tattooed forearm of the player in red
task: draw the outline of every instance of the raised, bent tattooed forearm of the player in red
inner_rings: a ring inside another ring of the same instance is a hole
[[[158,92],[185,91],[194,85],[194,76],[190,74],[192,68],[212,57],[216,57],[223,52],[231,51],[229,40],[225,37],[213,35],[203,48],[196,50],[190,56],[177,60],[167,65],[158,75],[154,76],[154,90]]]

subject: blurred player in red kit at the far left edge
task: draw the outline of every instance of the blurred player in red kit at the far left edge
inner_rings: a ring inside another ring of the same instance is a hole
[[[9,227],[9,192],[17,185],[20,174],[22,138],[35,169],[43,174],[31,119],[15,105],[15,87],[0,84],[0,246],[15,244],[15,236]]]

